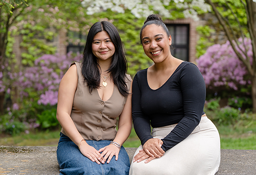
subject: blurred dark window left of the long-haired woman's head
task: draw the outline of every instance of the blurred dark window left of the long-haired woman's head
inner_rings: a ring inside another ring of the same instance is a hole
[[[74,31],[68,31],[68,46],[66,48],[66,52],[73,52],[73,53],[83,53],[84,52],[84,46],[87,36],[82,35],[81,32],[74,32]]]

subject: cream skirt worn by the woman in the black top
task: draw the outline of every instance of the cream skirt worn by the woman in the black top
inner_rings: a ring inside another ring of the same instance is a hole
[[[162,139],[176,126],[152,129],[154,138]],[[206,116],[185,140],[149,163],[133,162],[129,175],[214,175],[221,160],[220,136]],[[139,146],[134,156],[142,149]]]

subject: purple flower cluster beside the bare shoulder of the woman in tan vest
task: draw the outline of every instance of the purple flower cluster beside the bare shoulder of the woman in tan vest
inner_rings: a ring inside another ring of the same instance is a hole
[[[21,97],[30,97],[32,92],[38,94],[38,104],[56,105],[59,83],[73,61],[79,61],[80,56],[43,55],[35,60],[35,66],[27,67],[18,78],[22,87]],[[29,90],[28,90],[29,89]]]

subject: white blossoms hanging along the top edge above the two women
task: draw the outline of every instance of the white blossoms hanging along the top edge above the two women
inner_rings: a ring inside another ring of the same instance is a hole
[[[210,6],[204,0],[192,0],[191,4],[187,4],[184,0],[173,0],[177,4],[177,8],[184,8],[184,16],[197,19],[197,13],[193,10],[194,6],[198,6],[205,12],[210,10]],[[255,1],[255,0],[254,0]],[[81,5],[87,9],[87,14],[92,15],[100,10],[111,9],[118,13],[124,13],[125,9],[131,10],[131,13],[137,17],[147,17],[154,13],[149,7],[164,17],[171,17],[168,9],[164,7],[169,5],[171,0],[83,0]]]

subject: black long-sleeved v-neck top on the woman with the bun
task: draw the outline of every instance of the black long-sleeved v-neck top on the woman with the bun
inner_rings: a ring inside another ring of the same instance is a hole
[[[151,89],[147,69],[137,72],[132,83],[132,119],[141,144],[151,138],[152,127],[177,126],[163,138],[162,149],[184,140],[199,124],[205,103],[206,88],[198,67],[182,62],[158,89]]]

